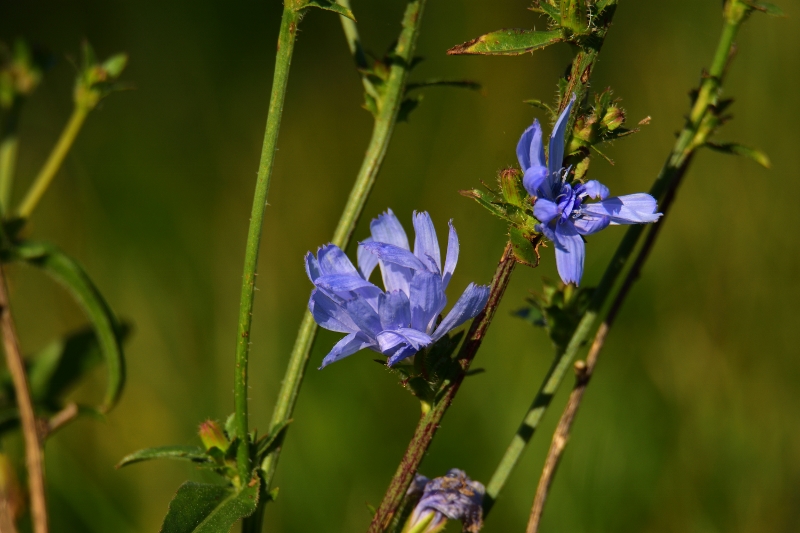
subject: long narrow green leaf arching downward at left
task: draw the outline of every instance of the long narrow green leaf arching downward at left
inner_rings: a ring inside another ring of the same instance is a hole
[[[83,268],[55,246],[26,241],[19,243],[13,253],[61,283],[89,317],[106,363],[108,384],[100,411],[108,412],[119,400],[125,384],[125,360],[116,333],[116,317]]]

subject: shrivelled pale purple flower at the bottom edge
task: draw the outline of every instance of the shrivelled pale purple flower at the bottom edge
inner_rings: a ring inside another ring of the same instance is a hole
[[[422,497],[406,522],[403,532],[436,533],[444,529],[448,519],[461,520],[463,531],[477,533],[483,527],[483,485],[472,481],[464,471],[451,469],[446,476],[428,480],[417,475],[411,489],[419,491],[425,483]]]

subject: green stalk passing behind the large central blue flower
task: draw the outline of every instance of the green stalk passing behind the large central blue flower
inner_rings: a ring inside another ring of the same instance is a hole
[[[409,2],[405,15],[403,16],[403,29],[397,41],[395,52],[405,64],[400,64],[398,62],[392,65],[389,80],[381,99],[379,113],[375,118],[375,125],[372,130],[372,138],[370,139],[367,153],[364,156],[364,161],[358,172],[353,189],[350,191],[350,196],[347,199],[347,204],[342,212],[342,216],[336,226],[332,242],[342,249],[346,248],[350,242],[353,230],[364,209],[367,198],[372,191],[375,178],[378,175],[378,171],[386,155],[386,150],[389,146],[395,123],[397,122],[397,113],[403,101],[403,93],[408,77],[407,65],[414,57],[414,50],[416,48],[417,36],[419,35],[425,3],[426,0],[413,0]],[[345,4],[342,3],[342,5]],[[305,370],[308,366],[308,357],[316,333],[317,325],[314,322],[314,318],[311,316],[311,313],[306,312],[300,325],[292,354],[289,358],[286,375],[284,376],[283,384],[278,394],[278,401],[272,413],[270,428],[278,427],[280,424],[289,420],[292,415],[295,403],[297,402],[297,395],[303,382]],[[281,447],[278,446],[272,453],[264,458],[261,464],[267,487],[271,484],[275,474],[280,452]]]

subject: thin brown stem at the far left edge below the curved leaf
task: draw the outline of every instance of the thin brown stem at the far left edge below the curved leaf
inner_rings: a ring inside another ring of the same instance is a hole
[[[0,264],[0,330],[3,333],[3,350],[6,365],[14,382],[14,392],[19,408],[22,434],[25,438],[25,462],[28,467],[28,489],[31,499],[31,517],[34,533],[47,533],[47,499],[44,487],[44,457],[42,441],[33,411],[28,377],[25,374],[25,361],[19,348],[19,337],[11,316],[11,302],[8,298],[5,272]]]

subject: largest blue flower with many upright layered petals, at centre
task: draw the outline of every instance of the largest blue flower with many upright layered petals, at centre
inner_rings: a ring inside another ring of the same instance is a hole
[[[394,365],[436,342],[477,315],[489,288],[470,283],[461,298],[436,324],[447,304],[445,289],[458,262],[458,235],[450,226],[442,268],[436,230],[428,213],[414,213],[414,252],[391,210],[370,223],[372,237],[358,247],[358,269],[333,244],[317,257],[306,254],[306,273],[314,284],[308,309],[325,329],[347,333],[322,360],[323,368],[363,348],[389,357]],[[380,266],[385,292],[369,281]]]

